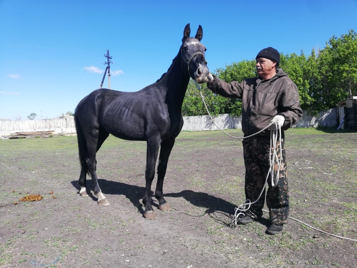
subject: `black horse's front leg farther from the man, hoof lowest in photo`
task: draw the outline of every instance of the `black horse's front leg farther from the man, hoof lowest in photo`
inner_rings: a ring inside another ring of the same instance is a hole
[[[155,177],[155,165],[157,154],[160,147],[160,137],[151,137],[147,140],[146,149],[146,170],[145,170],[145,193],[142,198],[142,203],[145,206],[144,217],[146,219],[155,219],[156,214],[151,206],[151,184]]]

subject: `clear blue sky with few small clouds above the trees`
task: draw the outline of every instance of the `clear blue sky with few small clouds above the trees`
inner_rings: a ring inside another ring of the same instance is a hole
[[[268,46],[285,54],[322,49],[332,35],[357,30],[356,10],[357,0],[0,0],[0,118],[74,111],[100,87],[107,49],[111,89],[154,83],[176,56],[187,23],[191,36],[202,25],[214,71]]]

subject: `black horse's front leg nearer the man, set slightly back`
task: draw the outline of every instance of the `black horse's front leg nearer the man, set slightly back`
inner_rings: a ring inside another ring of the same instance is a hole
[[[157,165],[157,184],[155,190],[155,197],[159,201],[159,209],[171,209],[170,205],[166,203],[162,188],[164,186],[164,179],[167,169],[167,162],[170,157],[172,147],[174,147],[175,139],[165,140],[161,143],[159,164]]]

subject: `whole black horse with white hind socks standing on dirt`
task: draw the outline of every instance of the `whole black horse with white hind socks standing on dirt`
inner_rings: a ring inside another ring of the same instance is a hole
[[[190,24],[183,31],[182,45],[172,64],[156,83],[137,92],[121,92],[97,89],[80,101],[75,110],[79,160],[81,173],[79,194],[87,196],[86,173],[93,181],[97,203],[109,205],[102,194],[96,175],[96,152],[104,140],[112,134],[126,140],[147,142],[144,217],[156,217],[151,207],[151,184],[155,177],[155,165],[160,149],[157,166],[155,197],[159,208],[170,209],[166,203],[162,186],[171,149],[183,125],[182,102],[190,77],[197,83],[207,83],[213,79],[205,59],[206,48],[200,43],[201,25],[195,38],[190,38]]]

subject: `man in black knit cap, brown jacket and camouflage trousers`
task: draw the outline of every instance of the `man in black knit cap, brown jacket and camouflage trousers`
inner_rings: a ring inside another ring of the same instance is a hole
[[[275,165],[275,173],[279,172],[277,185],[272,187],[268,178],[266,194],[269,208],[270,226],[266,232],[277,234],[287,223],[289,213],[289,193],[286,176],[286,158],[284,149],[284,130],[291,127],[302,116],[299,95],[296,85],[278,69],[280,63],[279,52],[272,48],[262,49],[256,56],[256,70],[258,78],[249,78],[241,83],[232,81],[226,83],[216,76],[207,83],[213,93],[227,98],[242,99],[242,131],[244,136],[257,133],[271,122],[277,122],[281,127],[281,147],[277,144],[278,158],[282,155],[280,170]],[[243,156],[246,168],[245,195],[251,203],[256,201],[263,190],[270,163],[270,130],[276,130],[276,124],[251,138],[243,139]],[[280,143],[278,141],[278,143]],[[270,175],[271,176],[271,175]],[[247,224],[262,217],[262,208],[265,200],[265,189],[260,199],[252,204],[239,219],[240,224]]]

